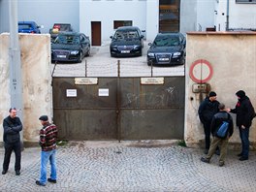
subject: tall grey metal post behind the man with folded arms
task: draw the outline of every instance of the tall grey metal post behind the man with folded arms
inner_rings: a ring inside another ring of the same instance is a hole
[[[10,49],[9,49],[9,66],[10,66],[10,92],[11,107],[17,109],[17,115],[23,123],[23,102],[22,102],[22,68],[20,63],[20,49],[18,45],[17,33],[17,0],[9,1],[9,18],[10,18]],[[21,148],[23,149],[23,131],[20,132]]]

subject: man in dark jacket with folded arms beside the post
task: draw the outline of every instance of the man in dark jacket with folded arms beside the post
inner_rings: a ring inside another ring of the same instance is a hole
[[[3,121],[4,127],[4,145],[5,145],[5,158],[3,163],[2,175],[5,175],[9,169],[10,158],[12,151],[16,154],[16,176],[20,175],[20,159],[21,159],[21,144],[19,132],[22,130],[22,123],[16,116],[16,109],[9,110],[9,116]]]

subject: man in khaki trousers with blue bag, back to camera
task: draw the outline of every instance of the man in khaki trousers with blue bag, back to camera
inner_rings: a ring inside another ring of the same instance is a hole
[[[210,124],[210,131],[214,138],[210,144],[208,155],[206,158],[202,157],[201,161],[205,163],[209,163],[210,158],[212,157],[213,153],[216,150],[216,147],[219,145],[220,146],[219,166],[222,167],[225,164],[225,156],[227,154],[227,145],[228,145],[229,139],[233,135],[234,125],[233,125],[232,116],[225,111],[224,104],[219,104],[219,111],[220,112],[217,112],[216,114],[214,114]],[[226,121],[229,123],[228,134],[225,138],[219,138],[216,133],[219,127],[221,126],[221,124],[223,123],[223,121]]]

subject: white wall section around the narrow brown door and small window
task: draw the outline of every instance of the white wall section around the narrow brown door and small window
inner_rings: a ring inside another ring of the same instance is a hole
[[[145,30],[146,1],[82,1],[80,0],[80,32],[91,39],[91,21],[101,21],[102,43],[110,42],[114,20],[132,20],[133,26]]]

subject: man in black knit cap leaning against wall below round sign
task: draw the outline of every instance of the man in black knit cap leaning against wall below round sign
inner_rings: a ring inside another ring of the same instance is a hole
[[[210,123],[213,115],[218,112],[219,102],[217,101],[217,94],[213,91],[209,92],[208,97],[199,106],[198,114],[201,122],[204,125],[206,150],[208,154],[210,144]]]

